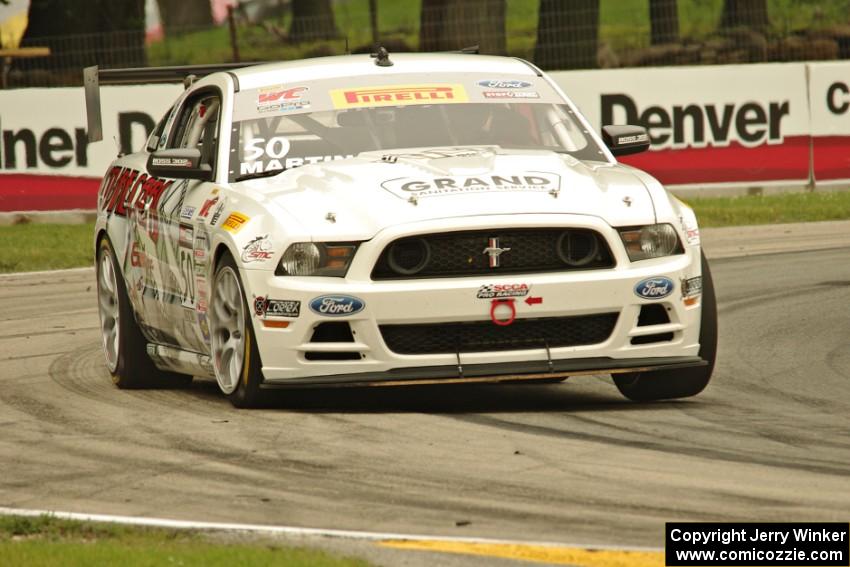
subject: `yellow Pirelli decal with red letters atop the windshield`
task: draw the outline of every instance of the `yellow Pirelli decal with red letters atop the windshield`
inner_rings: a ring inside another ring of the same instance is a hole
[[[468,102],[466,90],[459,84],[387,85],[333,89],[334,108],[363,108],[367,106],[400,106],[405,104],[450,104]]]

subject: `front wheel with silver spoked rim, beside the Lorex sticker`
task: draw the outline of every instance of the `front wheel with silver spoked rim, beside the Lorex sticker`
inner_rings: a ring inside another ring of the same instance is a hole
[[[218,387],[237,408],[261,405],[262,363],[251,310],[233,257],[216,266],[209,308],[212,362]]]

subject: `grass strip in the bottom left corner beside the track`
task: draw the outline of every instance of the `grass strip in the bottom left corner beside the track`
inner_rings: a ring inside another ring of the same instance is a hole
[[[368,567],[360,559],[269,543],[224,544],[201,532],[60,520],[0,517],[0,565],[29,567]]]

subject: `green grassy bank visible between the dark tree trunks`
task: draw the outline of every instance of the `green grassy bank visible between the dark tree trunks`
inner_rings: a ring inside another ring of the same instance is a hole
[[[506,0],[507,49],[510,55],[530,59],[537,41],[539,0]],[[345,38],[351,49],[371,43],[368,0],[334,2],[334,17],[340,40],[287,43],[260,25],[240,25],[239,50],[242,61],[290,60],[345,53]],[[679,0],[679,23],[683,38],[705,39],[715,33],[723,0]],[[378,0],[379,38],[388,45],[403,42],[410,49],[419,45],[421,0]],[[850,0],[768,0],[771,33],[786,35],[850,22]],[[284,32],[289,15],[264,22]],[[649,0],[600,0],[599,39],[615,52],[649,45]],[[232,60],[226,26],[167,38],[148,48],[152,65],[216,63]]]

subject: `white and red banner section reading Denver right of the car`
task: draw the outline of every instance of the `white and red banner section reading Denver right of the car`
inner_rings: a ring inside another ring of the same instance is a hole
[[[594,128],[647,128],[649,152],[623,158],[668,185],[809,178],[803,63],[558,71],[555,81]]]

